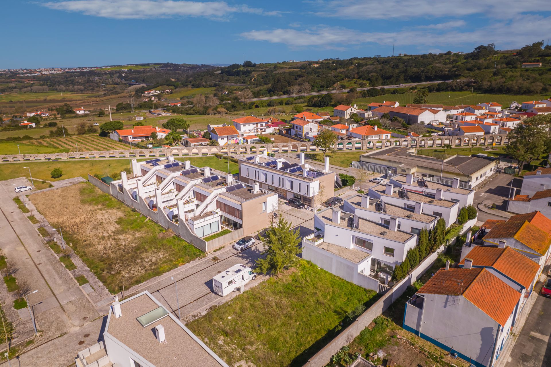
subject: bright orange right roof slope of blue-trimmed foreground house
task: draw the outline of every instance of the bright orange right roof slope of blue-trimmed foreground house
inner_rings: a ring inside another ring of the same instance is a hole
[[[515,310],[521,294],[494,274],[483,269],[463,293],[463,296],[490,316],[492,320],[505,326]]]

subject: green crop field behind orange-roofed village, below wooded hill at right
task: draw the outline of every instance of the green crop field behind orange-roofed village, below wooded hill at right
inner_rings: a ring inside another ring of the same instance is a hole
[[[405,106],[408,103],[413,103],[414,93],[406,94],[385,94],[372,98],[358,98],[354,100],[354,103],[359,107],[363,107],[364,104],[370,104],[371,102],[383,102],[383,101],[398,101],[401,106]],[[458,92],[434,92],[428,95],[428,104],[443,104],[443,105],[476,105],[481,102],[498,102],[504,107],[509,107],[511,101],[523,102],[531,100],[541,100],[549,98],[545,95],[507,95],[507,94],[480,94],[471,93],[470,91],[458,91]]]

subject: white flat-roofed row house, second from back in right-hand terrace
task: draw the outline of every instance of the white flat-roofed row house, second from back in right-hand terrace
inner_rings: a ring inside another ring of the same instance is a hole
[[[407,188],[394,187],[388,182],[386,185],[376,185],[369,188],[369,197],[380,199],[386,204],[393,204],[409,209],[415,214],[429,214],[443,218],[446,227],[457,221],[461,209],[458,202],[446,200],[442,197],[444,190],[436,189],[435,196],[423,195]]]

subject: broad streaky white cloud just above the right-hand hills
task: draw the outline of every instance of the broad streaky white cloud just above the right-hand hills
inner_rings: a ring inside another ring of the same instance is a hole
[[[518,26],[522,24],[522,26]],[[501,49],[522,47],[546,39],[551,33],[551,17],[518,15],[514,20],[496,21],[481,28],[456,28],[443,25],[404,28],[393,32],[363,32],[354,29],[318,26],[306,30],[252,30],[240,35],[247,40],[288,45],[290,48],[325,47],[342,50],[352,45],[368,44],[417,46],[420,50],[472,50],[480,44],[494,42]]]

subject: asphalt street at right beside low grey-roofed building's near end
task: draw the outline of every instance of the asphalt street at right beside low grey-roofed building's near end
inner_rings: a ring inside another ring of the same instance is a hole
[[[496,174],[488,181],[485,181],[483,185],[477,186],[474,192],[473,204],[477,206],[485,200],[495,203],[496,209],[505,211],[507,205],[507,198],[512,187],[520,188],[522,186],[522,180],[515,178],[514,176],[504,173]],[[518,190],[517,190],[518,191]],[[512,191],[511,191],[512,196]],[[478,220],[485,222],[488,219],[507,219],[500,217],[499,215],[489,214],[482,211],[478,211]]]

